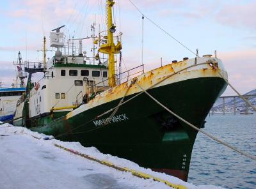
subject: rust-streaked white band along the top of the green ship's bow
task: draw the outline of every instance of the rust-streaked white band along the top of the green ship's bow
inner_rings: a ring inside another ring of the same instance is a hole
[[[224,77],[227,79],[227,72],[225,71],[225,68],[223,67],[223,64],[221,63],[220,59],[216,59],[216,58],[205,58],[205,57],[200,57],[197,58],[197,63],[204,63],[206,61],[209,60],[214,60],[214,61],[218,61],[218,66],[220,68],[220,73],[222,75],[224,75]],[[168,75],[173,73],[173,70],[175,72],[178,72],[179,70],[182,70],[188,66],[191,66],[195,64],[195,59],[189,59],[188,61],[182,61],[180,63],[175,63],[175,64],[168,64],[166,66],[157,68],[155,70],[152,70],[150,72],[144,73],[143,75],[138,76],[138,83],[143,86],[143,88],[148,89],[148,87],[156,84],[157,82],[159,82],[161,79],[163,79],[164,77],[167,77]],[[172,72],[171,72],[172,70]],[[202,72],[202,70],[204,70],[204,72]],[[150,77],[150,75],[152,75],[152,77],[150,78],[150,80],[147,79],[147,82],[144,82],[143,77]],[[180,82],[182,80],[188,80],[188,79],[196,79],[196,78],[202,78],[202,77],[220,77],[220,75],[217,72],[213,72],[212,71],[212,67],[209,66],[209,64],[204,64],[204,65],[200,65],[200,66],[195,66],[193,68],[189,68],[186,71],[180,72],[176,75],[173,75],[172,77],[170,77],[169,79],[164,80],[163,82],[157,84],[156,86],[154,86],[153,88],[156,87],[160,87],[160,86],[165,86],[167,84],[172,84],[175,82]],[[221,77],[220,77],[221,78]],[[104,103],[107,102],[111,102],[113,100],[116,100],[118,98],[122,98],[124,96],[124,87],[129,86],[129,84],[131,83],[131,80],[129,80],[128,82],[125,82],[123,84],[121,84],[120,86],[116,86],[115,87],[115,91],[116,94],[110,94],[111,93],[111,89],[109,89],[108,91],[105,91],[97,96],[95,96],[95,98],[93,100],[91,100],[89,103],[81,105],[81,107],[79,107],[76,110],[73,110],[72,112],[69,112],[67,114],[67,119],[69,119],[70,117],[76,116],[77,114],[84,112],[88,109],[92,109],[93,107],[97,107],[99,105],[102,105]],[[113,90],[113,89],[112,89]],[[141,89],[139,89],[136,86],[132,86],[131,89],[129,90],[129,92],[127,93],[127,96],[131,95],[131,94],[135,94],[135,93],[140,93]]]

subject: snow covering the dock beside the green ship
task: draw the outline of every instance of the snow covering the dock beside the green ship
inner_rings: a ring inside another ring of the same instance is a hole
[[[0,188],[170,188],[170,186],[133,176],[81,156],[68,153],[54,144],[90,155],[97,160],[111,162],[118,167],[128,167],[156,178],[184,186],[184,188],[211,188],[218,186],[195,186],[178,178],[150,169],[116,156],[104,155],[95,147],[83,147],[79,142],[44,140],[43,134],[26,128],[0,125]]]

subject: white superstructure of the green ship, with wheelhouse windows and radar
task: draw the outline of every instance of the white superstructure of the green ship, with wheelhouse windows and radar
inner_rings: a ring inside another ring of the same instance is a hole
[[[42,63],[29,63],[25,71],[29,73],[26,96],[20,98],[15,118],[24,117],[24,104],[28,104],[27,117],[30,119],[51,116],[54,112],[67,112],[86,103],[95,94],[108,89],[108,67],[105,63],[92,61],[95,57],[87,57],[82,53],[81,39],[79,51],[75,47],[64,47],[64,34],[60,28],[51,32],[51,47],[56,48],[55,56],[49,59],[47,66]],[[83,38],[87,39],[87,38]],[[73,41],[76,39],[72,39]],[[69,42],[70,40],[68,40]],[[67,50],[68,49],[68,50]],[[70,50],[72,54],[70,54]],[[66,53],[68,52],[68,53]],[[104,59],[102,59],[104,61]],[[92,64],[94,62],[95,64]],[[31,76],[36,72],[44,73],[44,77],[32,82]]]

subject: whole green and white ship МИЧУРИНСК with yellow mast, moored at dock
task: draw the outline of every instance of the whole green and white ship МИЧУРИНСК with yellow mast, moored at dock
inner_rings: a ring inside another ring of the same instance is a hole
[[[83,52],[84,39],[77,39],[77,50],[74,38],[65,45],[60,31],[64,26],[51,31],[55,56],[46,65],[44,53],[42,68],[26,66],[26,96],[17,105],[14,125],[94,146],[102,153],[187,181],[198,132],[144,91],[189,123],[204,128],[205,117],[227,87],[227,72],[221,60],[211,55],[185,57],[149,72],[143,64],[118,72],[122,33],[116,34],[113,4],[113,0],[106,1],[108,30],[84,38],[92,40],[95,56]],[[32,82],[31,76],[38,72],[44,77]]]

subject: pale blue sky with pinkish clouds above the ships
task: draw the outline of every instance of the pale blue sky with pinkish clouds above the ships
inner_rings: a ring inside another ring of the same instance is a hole
[[[199,55],[214,54],[223,61],[228,80],[240,93],[256,88],[256,1],[132,0],[143,14]],[[0,82],[10,86],[15,78],[17,54],[23,61],[42,61],[43,36],[49,42],[51,29],[65,25],[66,40],[90,36],[95,18],[97,33],[104,30],[104,0],[1,0]],[[129,0],[116,0],[114,21],[122,31],[125,68],[143,63],[146,70],[193,58],[189,52],[149,20]],[[144,26],[142,32],[142,25]],[[143,36],[143,37],[142,37]],[[92,41],[83,42],[88,54]],[[47,49],[49,43],[47,43]],[[47,52],[52,57],[54,52]],[[228,88],[225,95],[235,94]]]

